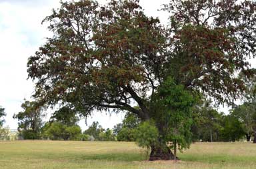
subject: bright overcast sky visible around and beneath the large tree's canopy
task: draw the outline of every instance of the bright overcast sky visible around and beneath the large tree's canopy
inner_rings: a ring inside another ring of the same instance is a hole
[[[141,0],[140,3],[145,13],[167,21],[167,14],[157,10],[167,1]],[[21,111],[23,99],[29,100],[33,93],[33,83],[27,81],[27,59],[51,36],[41,21],[57,7],[59,0],[0,0],[0,105],[7,113],[5,126],[12,129],[17,128],[13,114]],[[97,120],[104,128],[112,128],[122,118],[123,114],[109,116],[95,112],[87,122]],[[87,128],[85,120],[79,124],[83,130]]]

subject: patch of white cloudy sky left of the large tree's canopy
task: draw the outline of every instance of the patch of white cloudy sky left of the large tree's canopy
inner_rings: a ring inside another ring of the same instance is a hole
[[[41,20],[51,9],[12,2],[0,1],[0,104],[7,112],[6,125],[17,128],[12,116],[33,92],[33,83],[27,81],[27,59],[50,35]]]

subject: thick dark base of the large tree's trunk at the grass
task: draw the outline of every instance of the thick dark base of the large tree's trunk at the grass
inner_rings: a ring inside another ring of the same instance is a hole
[[[176,159],[179,160],[177,157]],[[157,146],[151,146],[149,160],[175,160],[175,155],[166,144],[159,144]]]

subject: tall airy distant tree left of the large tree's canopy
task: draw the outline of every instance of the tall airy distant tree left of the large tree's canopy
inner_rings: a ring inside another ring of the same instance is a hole
[[[13,118],[19,120],[18,130],[24,139],[39,139],[43,126],[44,108],[35,101],[25,100],[21,104],[23,111],[14,114]]]

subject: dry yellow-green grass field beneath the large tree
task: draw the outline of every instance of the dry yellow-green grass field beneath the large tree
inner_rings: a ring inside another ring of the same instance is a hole
[[[133,142],[0,142],[0,168],[256,168],[256,144],[196,143],[179,162],[148,162]]]

